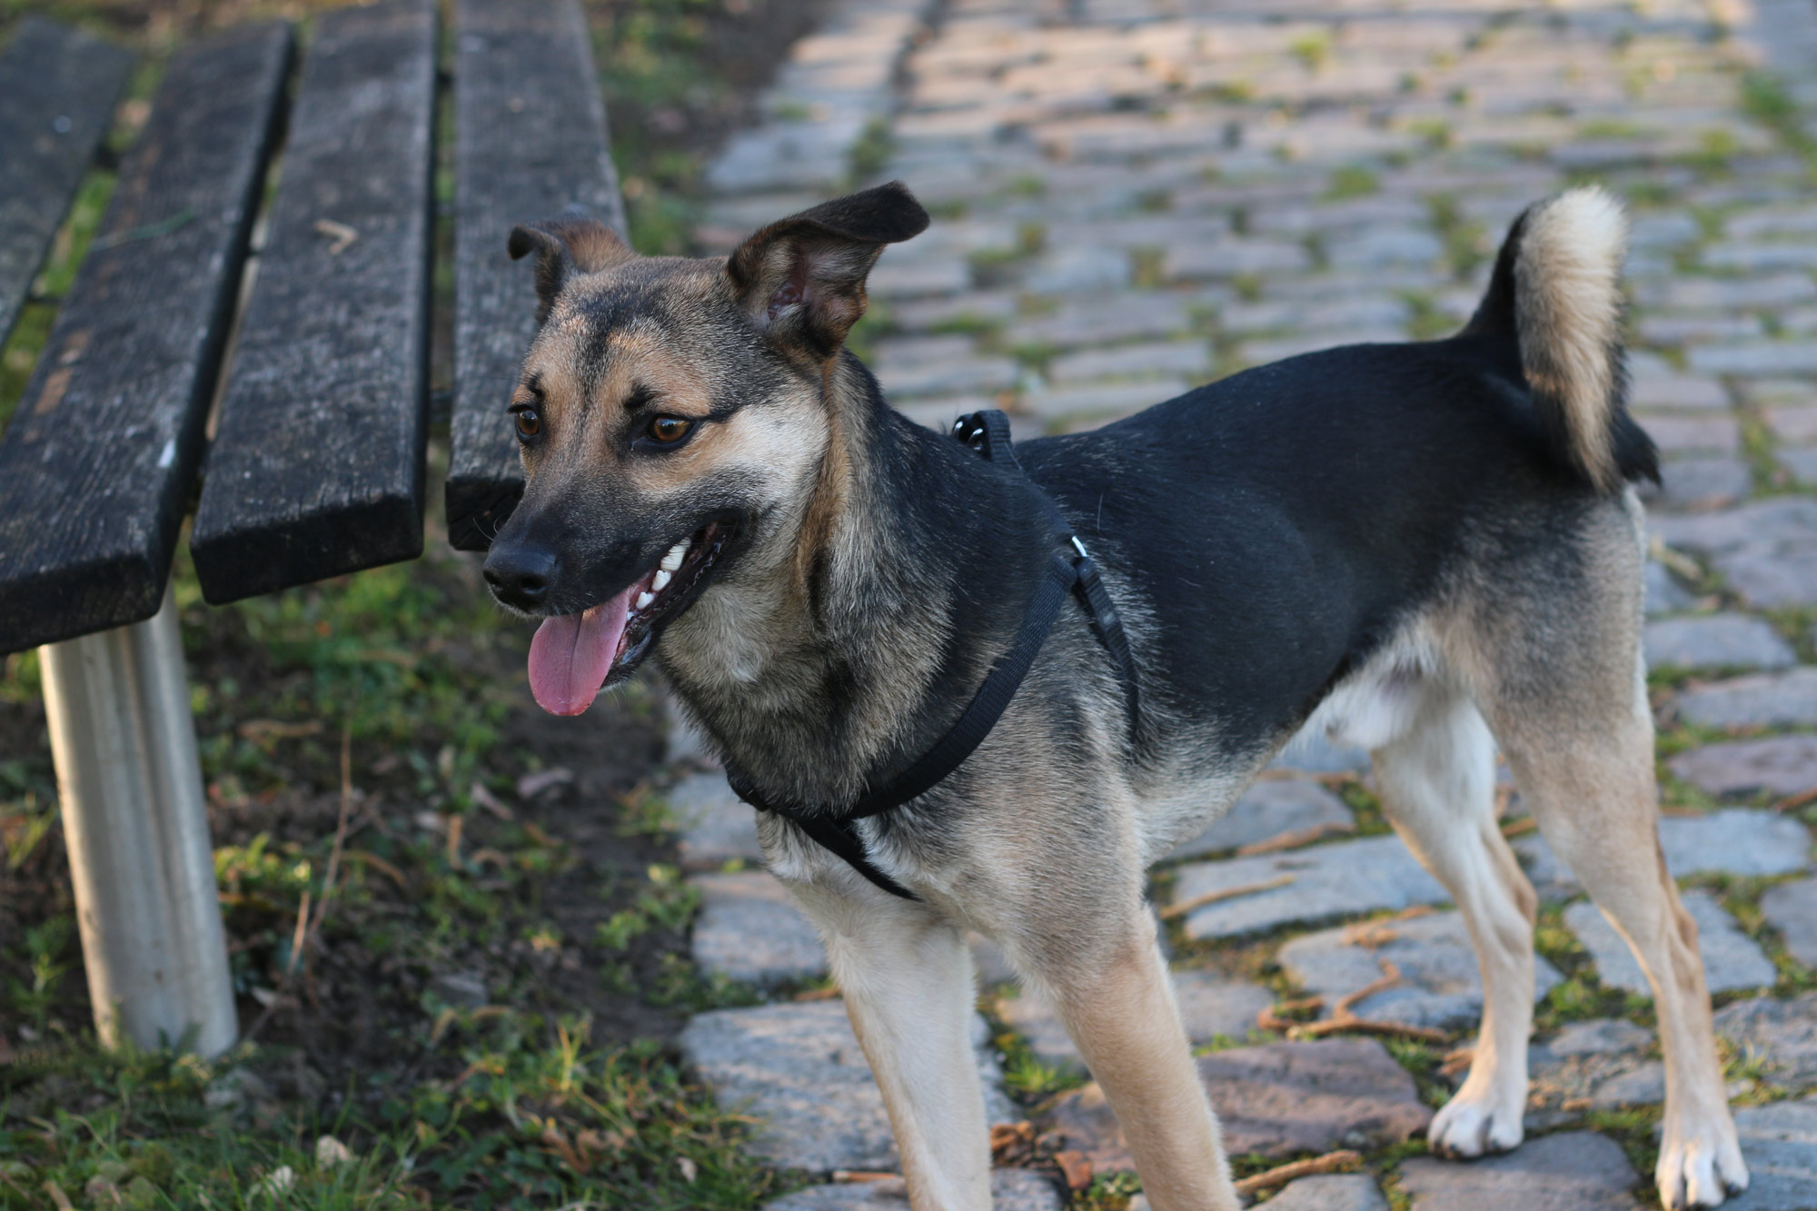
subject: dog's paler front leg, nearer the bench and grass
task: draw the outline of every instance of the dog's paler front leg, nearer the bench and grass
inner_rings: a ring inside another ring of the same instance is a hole
[[[856,878],[790,889],[819,927],[883,1091],[914,1211],[990,1211],[990,1144],[965,936],[925,904]]]

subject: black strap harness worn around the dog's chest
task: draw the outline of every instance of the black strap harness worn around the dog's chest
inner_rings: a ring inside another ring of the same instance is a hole
[[[1001,462],[1027,478],[1021,464],[1016,462],[1016,451],[1010,447],[1010,422],[1003,413],[988,409],[959,416],[959,420],[952,425],[952,436],[970,445],[988,462]],[[1030,482],[1030,485],[1034,484]],[[1048,520],[1054,527],[1056,551],[1052,560],[1048,560],[1047,576],[1041,580],[1041,587],[1036,589],[1034,600],[1028,604],[1028,613],[1023,615],[1023,624],[1016,631],[1016,642],[1012,642],[1010,649],[990,667],[990,673],[985,676],[985,684],[978,687],[978,695],[972,696],[970,706],[967,706],[965,713],[959,715],[959,722],[952,726],[952,731],[941,736],[932,749],[923,753],[914,766],[890,778],[881,787],[870,789],[856,802],[838,809],[810,804],[774,802],[750,786],[750,780],[740,771],[730,766],[725,769],[727,782],[732,784],[732,791],[741,800],[758,811],[774,811],[779,816],[794,820],[801,831],[814,838],[819,846],[845,858],[854,871],[894,896],[919,900],[919,896],[912,891],[872,866],[870,856],[865,853],[865,842],[858,835],[854,822],[901,807],[908,800],[934,789],[941,778],[958,769],[959,764],[970,756],[979,744],[983,744],[985,736],[990,735],[990,729],[996,727],[996,722],[1003,716],[1010,698],[1016,696],[1016,689],[1028,675],[1028,669],[1034,664],[1036,655],[1041,651],[1041,644],[1047,642],[1048,631],[1054,629],[1054,620],[1059,616],[1059,607],[1068,595],[1077,595],[1079,604],[1085,606],[1090,615],[1092,631],[1097,635],[1097,642],[1105,646],[1105,651],[1110,653],[1110,658],[1117,666],[1117,673],[1123,678],[1123,693],[1128,700],[1130,733],[1134,735],[1136,731],[1139,707],[1136,691],[1136,658],[1130,655],[1128,636],[1123,633],[1123,620],[1117,616],[1117,609],[1110,602],[1110,595],[1105,591],[1105,582],[1097,575],[1097,565],[1092,562],[1092,556],[1087,555],[1085,544],[1079,542],[1079,536],[1072,533],[1072,525],[1059,511],[1059,505],[1056,505],[1054,500],[1039,487],[1036,487],[1036,493],[1047,507]]]

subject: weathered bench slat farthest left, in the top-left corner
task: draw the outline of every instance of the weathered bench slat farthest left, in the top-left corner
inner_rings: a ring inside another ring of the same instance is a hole
[[[0,344],[131,69],[127,51],[42,16],[27,16],[0,55]]]

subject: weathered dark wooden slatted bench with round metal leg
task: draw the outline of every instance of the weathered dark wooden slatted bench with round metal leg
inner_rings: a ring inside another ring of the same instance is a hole
[[[214,604],[423,549],[440,89],[456,545],[521,491],[503,404],[536,296],[507,233],[563,209],[623,231],[576,0],[458,0],[452,71],[436,13],[327,13],[300,65],[285,24],[178,51],[0,435],[0,653],[40,649],[107,1044],[238,1033],[169,589],[184,518]],[[0,55],[0,340],[131,67],[38,18]]]

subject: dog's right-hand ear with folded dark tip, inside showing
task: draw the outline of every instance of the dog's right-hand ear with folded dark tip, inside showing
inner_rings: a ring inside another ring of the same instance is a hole
[[[725,271],[745,313],[772,340],[827,358],[865,315],[865,276],[885,244],[927,231],[927,211],[899,180],[821,202],[745,240]]]

